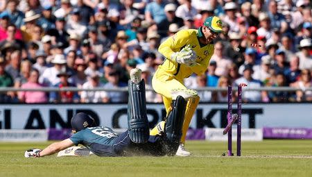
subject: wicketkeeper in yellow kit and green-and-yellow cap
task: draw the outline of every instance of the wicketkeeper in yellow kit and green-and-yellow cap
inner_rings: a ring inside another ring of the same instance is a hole
[[[157,93],[162,94],[167,115],[171,111],[171,103],[175,103],[178,95],[187,100],[181,144],[176,155],[190,155],[184,149],[184,142],[189,123],[200,100],[196,90],[189,90],[184,86],[183,79],[193,73],[198,75],[205,73],[209,60],[214,54],[212,40],[221,32],[221,20],[216,16],[208,17],[197,30],[178,31],[159,46],[159,52],[166,57],[166,60],[159,65],[153,76],[153,88]]]

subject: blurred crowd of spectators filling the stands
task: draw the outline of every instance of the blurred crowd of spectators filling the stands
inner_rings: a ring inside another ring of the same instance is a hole
[[[243,92],[244,101],[312,101],[312,15],[309,0],[0,0],[0,87],[121,88],[142,70],[146,88],[165,59],[159,44],[216,15],[207,73],[189,88],[297,87],[297,92]],[[225,102],[226,92],[199,91]],[[126,92],[6,92],[1,103],[124,103]],[[146,92],[146,100],[162,96]]]

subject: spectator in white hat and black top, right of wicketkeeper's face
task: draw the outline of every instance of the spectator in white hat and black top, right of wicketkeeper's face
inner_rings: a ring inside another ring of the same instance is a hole
[[[241,36],[238,33],[229,34],[229,44],[225,51],[225,56],[232,58],[233,62],[239,67],[243,65],[243,47],[241,47]]]

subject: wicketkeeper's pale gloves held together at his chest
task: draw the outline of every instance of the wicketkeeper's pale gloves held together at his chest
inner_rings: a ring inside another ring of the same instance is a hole
[[[191,49],[190,45],[187,45],[187,47],[184,47],[181,51],[173,53],[171,59],[180,64],[193,66],[196,60],[196,53]]]

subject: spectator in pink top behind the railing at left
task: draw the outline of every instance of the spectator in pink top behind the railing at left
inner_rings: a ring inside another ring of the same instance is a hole
[[[22,89],[41,89],[42,85],[38,83],[40,73],[37,69],[31,70],[28,82],[21,85]],[[45,92],[35,91],[20,91],[18,92],[19,101],[22,103],[46,103],[48,98]]]

